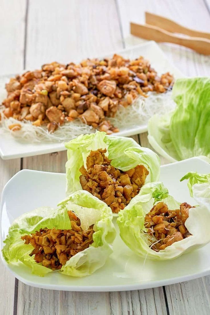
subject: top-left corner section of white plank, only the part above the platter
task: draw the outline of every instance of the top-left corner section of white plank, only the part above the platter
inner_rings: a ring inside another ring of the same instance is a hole
[[[16,73],[23,69],[25,0],[0,2],[0,74]]]

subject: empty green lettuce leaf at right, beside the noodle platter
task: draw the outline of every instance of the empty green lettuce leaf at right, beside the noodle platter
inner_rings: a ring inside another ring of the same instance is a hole
[[[173,112],[151,117],[148,140],[171,162],[210,157],[210,78],[180,78],[172,90]]]

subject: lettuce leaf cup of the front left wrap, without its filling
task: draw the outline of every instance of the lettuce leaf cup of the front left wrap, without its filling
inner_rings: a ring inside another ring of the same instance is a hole
[[[94,242],[89,248],[72,256],[58,272],[82,277],[91,274],[105,264],[106,259],[112,253],[112,243],[116,236],[111,209],[86,191],[75,192],[58,206],[58,209],[38,208],[21,215],[13,222],[2,250],[5,261],[10,264],[20,261],[30,266],[32,273],[39,276],[52,272],[51,269],[37,264],[34,257],[29,256],[33,247],[31,244],[24,244],[20,237],[44,227],[71,229],[67,210],[73,210],[80,218],[82,228],[87,229],[94,224]]]

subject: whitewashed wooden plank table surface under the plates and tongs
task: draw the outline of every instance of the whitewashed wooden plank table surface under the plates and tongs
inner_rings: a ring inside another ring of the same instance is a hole
[[[144,23],[145,11],[164,15],[186,27],[210,31],[209,0],[1,0],[0,74],[39,68],[54,60],[94,57],[141,43],[141,39],[129,35],[129,21]],[[209,57],[173,44],[159,46],[185,75],[210,74]],[[133,138],[149,147],[147,133]],[[0,190],[20,169],[64,173],[65,161],[66,152],[0,160]],[[208,276],[139,291],[65,292],[25,285],[0,263],[0,314],[210,313]]]

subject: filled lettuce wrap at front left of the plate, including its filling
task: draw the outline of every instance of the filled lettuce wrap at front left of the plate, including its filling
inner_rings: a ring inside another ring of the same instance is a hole
[[[39,276],[57,271],[82,277],[105,264],[115,236],[111,209],[78,191],[58,209],[42,207],[17,218],[2,251],[7,263],[21,262]]]

